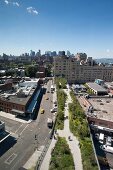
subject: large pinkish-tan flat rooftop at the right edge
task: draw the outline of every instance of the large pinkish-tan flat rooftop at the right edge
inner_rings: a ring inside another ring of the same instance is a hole
[[[113,121],[113,98],[89,98],[95,111],[94,117],[107,121]]]

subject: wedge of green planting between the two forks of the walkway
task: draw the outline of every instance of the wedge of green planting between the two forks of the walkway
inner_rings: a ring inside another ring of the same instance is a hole
[[[49,170],[74,170],[73,157],[65,138],[58,141],[51,153]]]

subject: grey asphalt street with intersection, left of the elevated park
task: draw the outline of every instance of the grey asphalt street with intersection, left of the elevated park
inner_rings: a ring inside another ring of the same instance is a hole
[[[46,85],[50,91],[51,81]],[[47,92],[46,91],[46,92]],[[45,98],[49,97],[49,100]],[[41,108],[44,114],[37,113],[37,119],[29,124],[15,122],[7,118],[0,117],[6,124],[6,130],[12,133],[15,138],[9,137],[0,145],[0,169],[17,170],[22,167],[36,148],[44,146],[50,136],[50,129],[47,127],[47,118],[52,117],[52,94],[45,93],[42,97]]]

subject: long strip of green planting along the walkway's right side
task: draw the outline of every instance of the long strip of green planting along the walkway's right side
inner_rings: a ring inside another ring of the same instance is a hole
[[[69,104],[70,129],[80,142],[81,156],[84,170],[98,170],[95,159],[87,119],[73,92],[70,92],[73,103]]]

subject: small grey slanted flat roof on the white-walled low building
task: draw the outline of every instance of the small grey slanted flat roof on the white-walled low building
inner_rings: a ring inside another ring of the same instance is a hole
[[[91,88],[91,89],[93,89],[93,90],[95,90],[95,91],[99,91],[99,92],[107,92],[107,90],[106,89],[104,89],[102,86],[100,86],[100,85],[98,85],[97,83],[91,83],[91,82],[89,82],[89,83],[87,83],[87,85]]]

